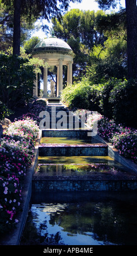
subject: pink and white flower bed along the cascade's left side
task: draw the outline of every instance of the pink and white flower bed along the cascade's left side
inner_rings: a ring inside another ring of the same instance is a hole
[[[32,104],[35,111],[36,105],[38,109],[45,106],[43,102]],[[0,234],[11,230],[18,222],[23,178],[32,163],[36,138],[40,132],[30,117],[21,119],[11,123],[0,140]]]

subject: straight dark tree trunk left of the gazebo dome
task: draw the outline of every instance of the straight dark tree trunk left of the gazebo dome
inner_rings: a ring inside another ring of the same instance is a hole
[[[20,54],[21,41],[21,2],[14,0],[14,35],[13,35],[13,54]]]

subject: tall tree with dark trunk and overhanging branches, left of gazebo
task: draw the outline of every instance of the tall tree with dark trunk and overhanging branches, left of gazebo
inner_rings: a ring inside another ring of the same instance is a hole
[[[22,14],[28,16],[30,23],[34,17],[50,20],[52,16],[61,17],[63,11],[68,9],[70,2],[80,3],[81,0],[2,0],[2,2],[5,5],[14,5],[13,52],[19,55]]]

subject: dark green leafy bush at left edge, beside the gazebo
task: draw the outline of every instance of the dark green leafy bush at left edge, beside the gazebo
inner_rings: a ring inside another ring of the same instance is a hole
[[[35,72],[28,59],[0,55],[0,100],[10,109],[24,105],[32,98]]]

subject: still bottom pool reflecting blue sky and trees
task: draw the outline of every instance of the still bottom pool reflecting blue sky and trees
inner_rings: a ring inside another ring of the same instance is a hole
[[[21,245],[137,245],[137,192],[32,193]]]

